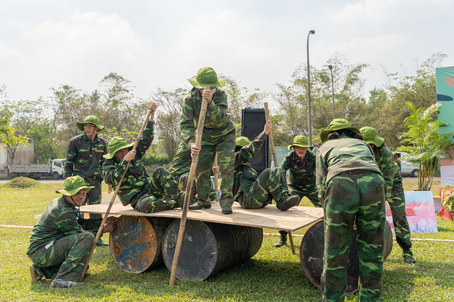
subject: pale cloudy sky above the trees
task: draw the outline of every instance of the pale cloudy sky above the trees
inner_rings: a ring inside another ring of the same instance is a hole
[[[116,1],[1,0],[0,86],[11,100],[49,96],[68,84],[85,91],[117,72],[147,97],[188,86],[213,67],[242,86],[273,90],[306,63],[334,52],[368,62],[366,91],[413,58],[436,52],[454,66],[453,0]]]

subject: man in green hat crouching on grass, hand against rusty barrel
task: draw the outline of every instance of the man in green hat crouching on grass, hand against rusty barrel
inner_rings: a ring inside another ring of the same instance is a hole
[[[84,202],[87,192],[93,189],[80,176],[66,177],[63,189],[55,191],[62,196],[44,208],[33,227],[26,251],[33,262],[30,265],[33,282],[54,279],[50,288],[84,285],[78,280],[102,219],[79,218],[78,207]],[[103,232],[115,230],[116,221],[116,217],[108,217]]]

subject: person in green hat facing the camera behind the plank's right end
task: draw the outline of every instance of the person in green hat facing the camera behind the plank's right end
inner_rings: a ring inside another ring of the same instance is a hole
[[[286,154],[281,163],[281,169],[289,172],[290,195],[298,195],[300,199],[307,197],[314,206],[321,207],[318,199],[316,181],[315,154],[311,151],[313,146],[309,146],[304,135],[296,135],[293,144],[287,148],[293,150]],[[309,150],[310,148],[311,150]],[[273,246],[280,248],[287,244],[287,231],[280,230],[281,237]]]

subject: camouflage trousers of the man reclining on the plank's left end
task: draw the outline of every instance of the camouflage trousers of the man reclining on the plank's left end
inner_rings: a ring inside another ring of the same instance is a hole
[[[179,193],[175,179],[163,167],[154,170],[150,181],[133,197],[131,206],[143,213],[153,213],[178,207],[173,200]]]

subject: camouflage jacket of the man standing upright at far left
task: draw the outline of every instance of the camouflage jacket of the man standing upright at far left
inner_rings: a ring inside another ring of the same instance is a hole
[[[63,177],[79,175],[103,178],[102,163],[103,155],[107,154],[106,141],[96,134],[94,141],[85,134],[80,134],[69,140],[66,159],[64,161]]]

